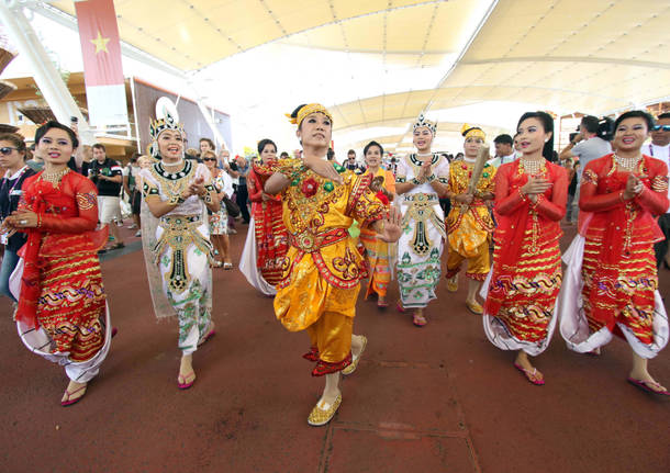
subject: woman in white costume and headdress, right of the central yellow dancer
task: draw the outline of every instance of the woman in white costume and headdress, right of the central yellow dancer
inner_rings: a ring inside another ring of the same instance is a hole
[[[418,116],[413,132],[417,153],[401,159],[397,171],[395,192],[403,214],[403,232],[398,241],[398,308],[414,309],[413,323],[417,327],[426,325],[423,311],[437,297],[435,288],[442,274],[445,222],[439,196],[447,191],[449,162],[431,153],[436,131],[434,122]]]

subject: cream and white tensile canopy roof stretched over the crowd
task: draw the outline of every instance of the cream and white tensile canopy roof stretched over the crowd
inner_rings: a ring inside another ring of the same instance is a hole
[[[462,121],[510,133],[525,110],[604,114],[670,95],[666,0],[114,4],[122,41],[187,74],[249,146],[297,147],[282,113],[310,101],[333,110],[340,149],[409,149],[426,112],[456,151]]]

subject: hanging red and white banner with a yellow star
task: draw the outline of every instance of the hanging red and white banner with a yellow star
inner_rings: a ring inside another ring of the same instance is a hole
[[[75,8],[91,125],[126,124],[127,106],[114,2],[76,1]]]

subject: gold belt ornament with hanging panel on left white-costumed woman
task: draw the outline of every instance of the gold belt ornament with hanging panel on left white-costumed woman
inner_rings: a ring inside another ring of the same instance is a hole
[[[204,238],[198,227],[202,225],[200,215],[170,215],[160,217],[158,225],[164,229],[160,239],[154,246],[154,263],[160,263],[160,255],[166,247],[172,249],[172,263],[168,275],[168,288],[177,293],[188,289],[191,282],[186,252],[191,246],[206,255],[208,260],[212,261],[212,244]]]

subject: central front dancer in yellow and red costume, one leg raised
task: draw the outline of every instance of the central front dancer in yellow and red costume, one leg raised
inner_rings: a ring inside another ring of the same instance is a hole
[[[304,358],[316,362],[312,375],[326,379],[308,423],[322,426],[342,403],[339,372],[356,370],[367,344],[353,335],[366,269],[347,229],[356,219],[384,241],[397,241],[400,215],[369,189],[371,176],[356,176],[325,159],[333,117],[323,105],[301,105],[291,121],[298,125],[303,159],[280,160],[265,184],[267,193],[282,192],[290,243],[275,313],[288,330],[308,330],[312,347]]]

